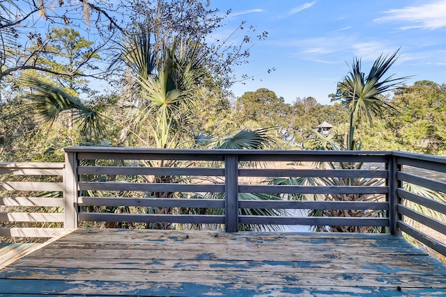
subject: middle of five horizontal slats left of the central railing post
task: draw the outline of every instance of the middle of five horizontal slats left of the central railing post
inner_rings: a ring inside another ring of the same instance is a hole
[[[130,182],[78,182],[79,190],[148,191],[148,192],[212,192],[224,193],[223,184],[159,184]]]

